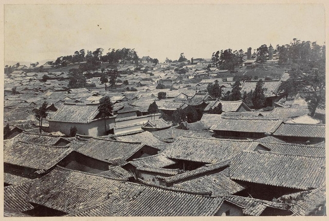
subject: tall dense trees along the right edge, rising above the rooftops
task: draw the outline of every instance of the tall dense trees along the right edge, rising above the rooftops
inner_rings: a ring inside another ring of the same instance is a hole
[[[281,84],[279,90],[286,95],[307,92],[306,101],[310,115],[325,106],[325,46],[316,42],[293,39],[289,45],[278,46],[279,64],[291,65],[289,79]]]

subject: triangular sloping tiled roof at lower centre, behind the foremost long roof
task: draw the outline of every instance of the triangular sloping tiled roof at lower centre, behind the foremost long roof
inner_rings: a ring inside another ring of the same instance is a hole
[[[177,175],[176,175],[177,176]],[[174,184],[173,187],[191,189],[196,191],[207,191],[213,194],[235,194],[245,189],[229,177],[229,168],[220,172],[200,177],[191,177],[189,180]]]

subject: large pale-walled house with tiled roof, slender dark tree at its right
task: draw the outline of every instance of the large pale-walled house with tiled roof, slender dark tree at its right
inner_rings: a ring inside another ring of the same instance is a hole
[[[98,105],[69,104],[62,106],[48,118],[49,130],[70,134],[70,128],[76,127],[77,133],[87,136],[106,135],[113,130],[116,115],[100,118]]]

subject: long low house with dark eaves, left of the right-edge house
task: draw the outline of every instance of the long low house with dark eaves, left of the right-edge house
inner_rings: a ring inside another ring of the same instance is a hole
[[[216,136],[261,138],[274,133],[281,125],[278,118],[222,116],[210,129]]]

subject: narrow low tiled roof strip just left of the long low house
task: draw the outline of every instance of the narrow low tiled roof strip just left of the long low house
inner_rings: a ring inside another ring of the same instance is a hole
[[[212,137],[212,132],[179,130],[175,128],[153,131],[151,133],[157,137],[166,138],[166,139],[173,139],[179,136]]]

